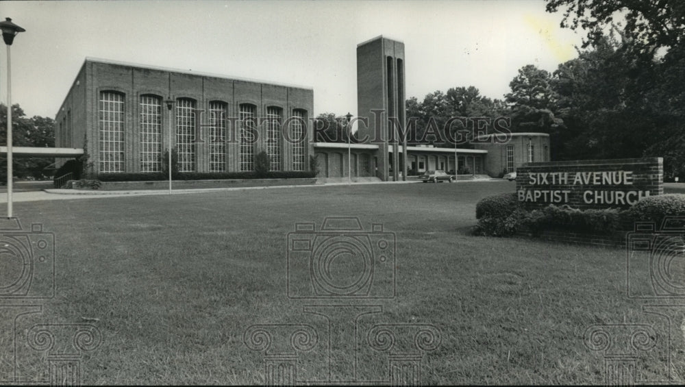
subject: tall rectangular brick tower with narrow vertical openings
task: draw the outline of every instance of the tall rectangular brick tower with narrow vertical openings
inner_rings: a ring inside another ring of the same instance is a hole
[[[357,45],[357,112],[369,118],[368,127],[358,123],[358,138],[379,145],[376,175],[384,181],[397,181],[399,171],[407,176],[397,136],[397,125],[406,127],[404,85],[403,42],[378,36]],[[402,145],[405,150],[406,138]]]

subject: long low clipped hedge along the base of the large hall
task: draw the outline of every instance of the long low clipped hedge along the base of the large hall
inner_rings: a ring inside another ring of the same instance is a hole
[[[175,173],[173,180],[227,180],[227,179],[310,179],[310,171],[272,171],[260,176],[256,172],[183,172]],[[100,173],[101,182],[146,182],[169,179],[164,173]]]

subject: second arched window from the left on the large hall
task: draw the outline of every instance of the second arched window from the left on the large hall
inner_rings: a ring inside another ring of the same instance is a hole
[[[162,99],[140,97],[140,172],[162,171]]]

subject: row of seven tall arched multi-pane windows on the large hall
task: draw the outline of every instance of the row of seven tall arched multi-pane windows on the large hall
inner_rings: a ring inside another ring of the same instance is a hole
[[[138,147],[140,171],[162,171],[162,97],[141,95],[138,115],[140,131]],[[239,106],[240,131],[238,141],[238,170],[254,170],[254,143],[256,138],[256,105]],[[195,171],[197,105],[195,99],[179,98],[175,101],[175,144],[179,172]],[[228,104],[211,101],[208,110],[208,140],[210,172],[226,171],[226,118]],[[290,121],[290,138],[306,138],[305,110],[293,110]],[[125,95],[116,91],[103,91],[99,99],[99,170],[103,173],[124,172],[125,160]],[[266,108],[266,153],[271,160],[271,171],[280,171],[282,160],[283,110]],[[292,143],[292,168],[305,171],[305,141]]]

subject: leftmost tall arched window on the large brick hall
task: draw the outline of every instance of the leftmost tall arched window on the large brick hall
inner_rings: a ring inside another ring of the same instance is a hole
[[[124,171],[124,95],[103,91],[99,103],[100,172]]]

